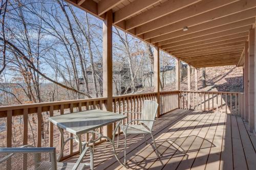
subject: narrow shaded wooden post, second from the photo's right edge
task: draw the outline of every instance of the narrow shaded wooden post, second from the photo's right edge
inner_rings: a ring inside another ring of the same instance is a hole
[[[249,86],[249,54],[248,54],[248,41],[245,42],[245,55],[244,55],[244,115],[243,118],[248,122],[249,103],[248,103],[248,86]]]

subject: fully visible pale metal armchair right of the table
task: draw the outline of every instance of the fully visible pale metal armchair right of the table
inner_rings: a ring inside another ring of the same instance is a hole
[[[141,114],[140,119],[133,119],[130,122],[128,122],[126,125],[120,125],[120,128],[124,134],[124,164],[126,164],[126,136],[127,134],[151,134],[154,147],[156,149],[156,154],[159,157],[159,152],[156,147],[156,142],[154,140],[153,134],[152,134],[152,128],[153,124],[155,122],[155,117],[157,114],[158,104],[154,101],[144,101],[142,112],[123,112],[122,114],[131,114],[131,113],[137,113]],[[132,122],[139,122],[138,125],[131,125]],[[146,142],[146,139],[145,139]],[[118,141],[117,141],[117,147],[119,145],[119,134],[118,134]]]

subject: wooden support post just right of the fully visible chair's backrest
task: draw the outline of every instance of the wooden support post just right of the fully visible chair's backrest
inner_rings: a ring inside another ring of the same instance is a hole
[[[159,47],[158,44],[154,47],[154,84],[155,92],[157,92],[157,103],[159,105],[157,110],[157,117],[160,117],[160,63],[159,63]],[[163,80],[162,80],[163,81]]]

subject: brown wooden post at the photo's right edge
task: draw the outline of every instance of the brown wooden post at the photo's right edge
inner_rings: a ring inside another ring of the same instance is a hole
[[[254,48],[255,29],[249,31],[249,130],[254,130]]]

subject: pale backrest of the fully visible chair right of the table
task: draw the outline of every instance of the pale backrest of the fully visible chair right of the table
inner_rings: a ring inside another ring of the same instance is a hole
[[[158,104],[154,101],[144,101],[141,119],[143,120],[154,120],[157,114]],[[153,128],[154,122],[142,121],[144,125],[146,125],[150,130]]]

